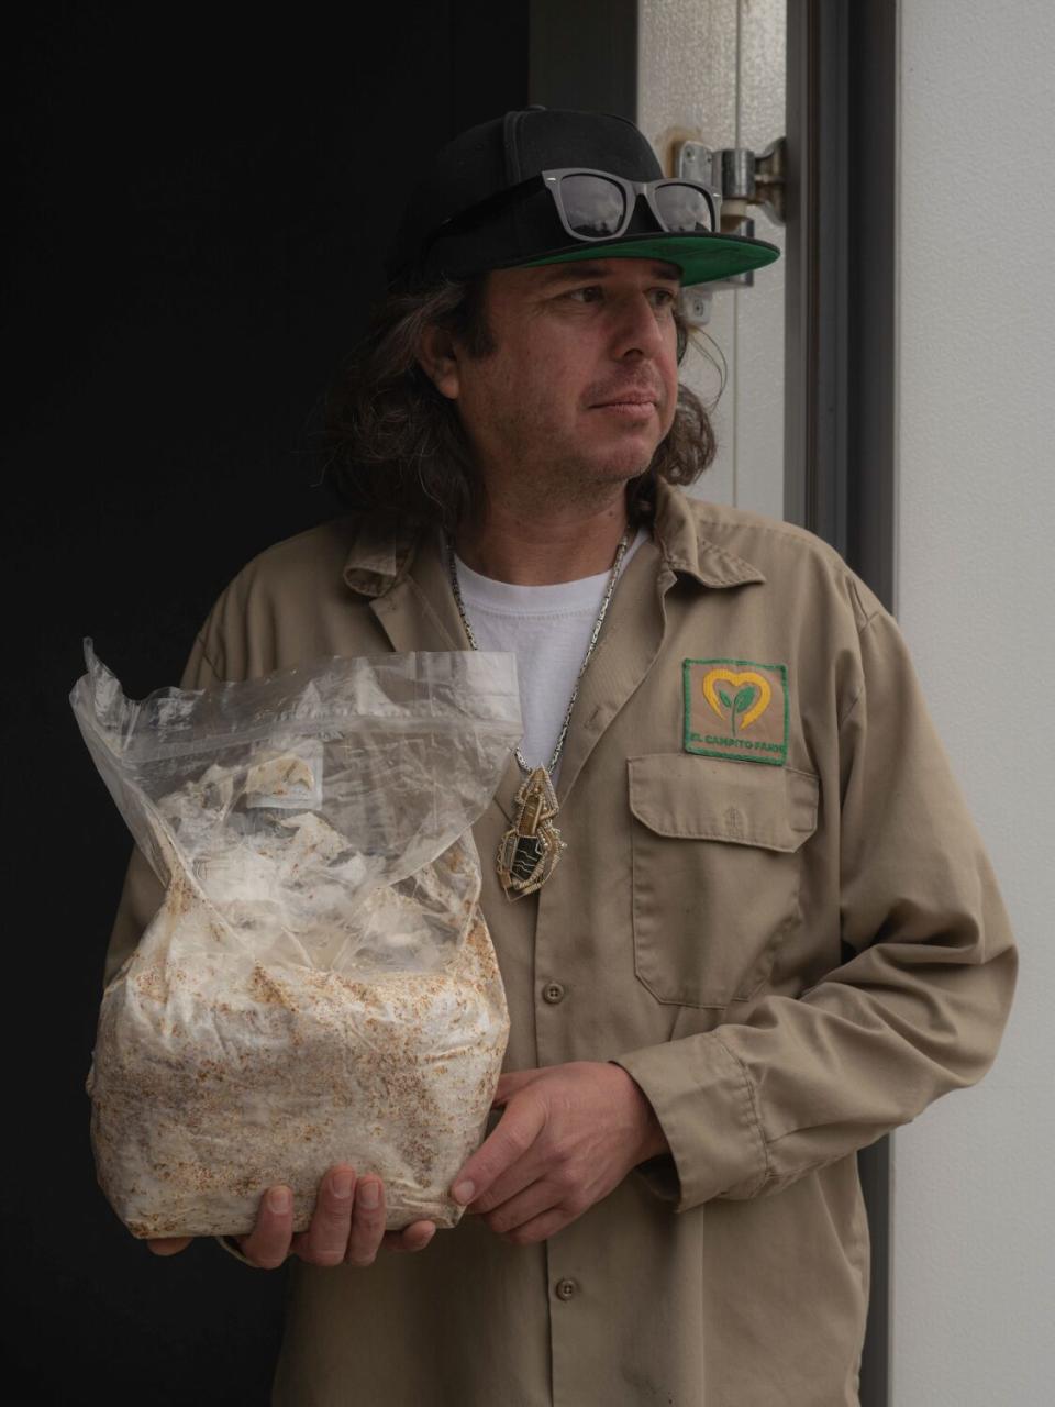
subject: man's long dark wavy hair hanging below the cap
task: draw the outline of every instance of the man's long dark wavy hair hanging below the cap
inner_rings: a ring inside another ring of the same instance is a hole
[[[681,314],[678,362],[689,342]],[[385,518],[426,518],[454,530],[477,485],[459,414],[418,364],[429,324],[470,356],[495,350],[487,324],[487,274],[425,291],[388,293],[363,343],[331,387],[324,409],[324,481],[338,502]],[[627,485],[632,518],[646,516],[657,478],[692,484],[715,457],[706,407],[678,387],[674,424],[648,469]]]

